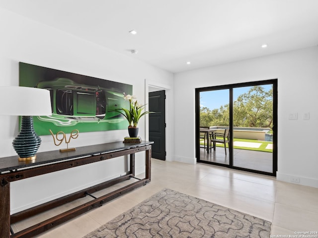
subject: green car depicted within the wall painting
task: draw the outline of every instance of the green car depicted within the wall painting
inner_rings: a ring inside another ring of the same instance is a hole
[[[42,81],[36,87],[50,91],[52,107],[52,116],[38,119],[57,126],[73,126],[80,122],[118,123],[124,118],[115,109],[129,107],[123,93],[76,84],[68,78]]]

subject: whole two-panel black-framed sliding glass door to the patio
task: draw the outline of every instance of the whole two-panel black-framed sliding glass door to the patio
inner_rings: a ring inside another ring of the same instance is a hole
[[[277,79],[196,89],[197,162],[276,176],[273,128]]]

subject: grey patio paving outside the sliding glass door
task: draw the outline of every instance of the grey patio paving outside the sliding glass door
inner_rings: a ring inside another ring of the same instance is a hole
[[[228,150],[228,148],[227,148]],[[240,168],[273,173],[273,154],[270,152],[234,149],[233,165]],[[230,163],[230,155],[224,153],[224,147],[216,147],[211,153],[200,148],[200,160],[219,164]]]

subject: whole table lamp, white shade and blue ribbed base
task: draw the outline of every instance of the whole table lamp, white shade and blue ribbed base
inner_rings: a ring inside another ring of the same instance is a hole
[[[12,142],[18,160],[35,160],[41,138],[34,131],[33,116],[52,115],[50,92],[19,86],[3,86],[0,92],[0,115],[22,116],[20,132]]]

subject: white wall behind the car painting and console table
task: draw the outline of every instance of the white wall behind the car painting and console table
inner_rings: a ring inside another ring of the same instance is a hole
[[[0,86],[18,85],[18,62],[22,61],[133,84],[133,93],[141,101],[146,99],[145,79],[160,81],[168,85],[170,91],[173,90],[173,75],[169,72],[2,8],[0,8],[0,29]],[[172,97],[167,100],[172,102]],[[171,102],[168,101],[170,104]],[[171,116],[167,115],[167,117],[172,120]],[[0,124],[2,125],[1,157],[16,155],[11,143],[18,133],[18,118],[0,116]],[[139,127],[139,135],[143,139],[148,139],[146,138],[146,117],[140,121]],[[167,133],[168,138],[173,138],[172,130]],[[79,133],[79,138],[71,141],[70,146],[121,141],[126,135],[127,130]],[[39,152],[59,149],[54,145],[51,135],[41,136],[41,138],[42,144]],[[173,144],[173,141],[167,141],[167,143]],[[167,153],[169,153],[169,157],[172,157],[171,150]],[[144,158],[144,153],[136,155],[137,173],[143,172]],[[11,212],[14,213],[70,191],[79,190],[87,185],[114,178],[123,173],[125,167],[127,168],[127,160],[125,161],[124,158],[98,164],[11,183]]]

